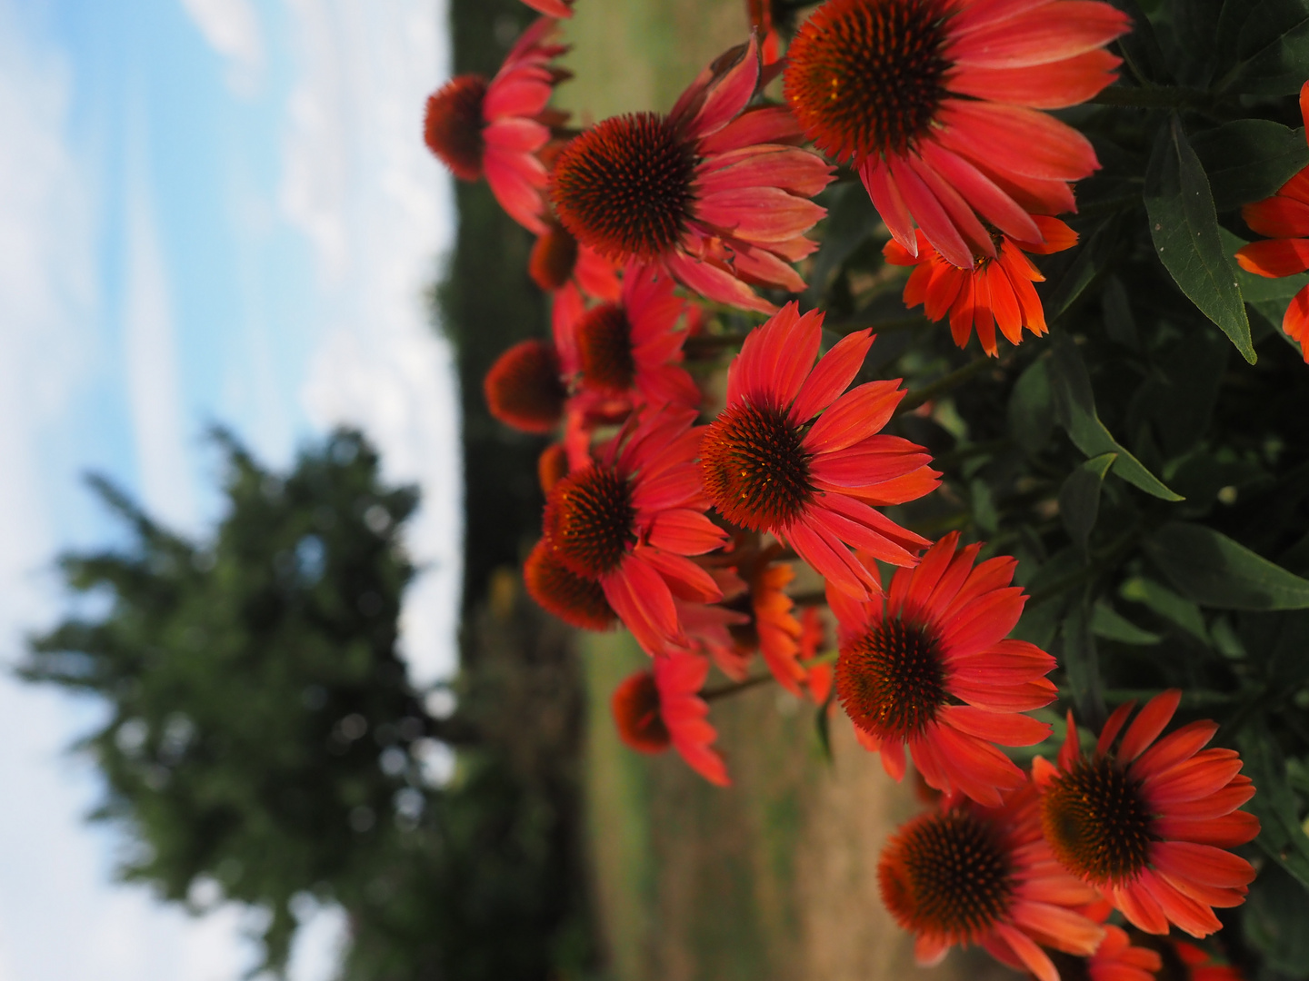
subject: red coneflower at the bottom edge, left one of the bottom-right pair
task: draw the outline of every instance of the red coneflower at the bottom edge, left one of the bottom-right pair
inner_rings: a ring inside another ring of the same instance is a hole
[[[882,901],[915,934],[920,964],[950,947],[982,944],[1041,981],[1059,973],[1041,946],[1089,956],[1105,935],[1073,906],[1096,899],[1041,838],[1030,785],[995,808],[946,798],[902,825],[877,866]]]

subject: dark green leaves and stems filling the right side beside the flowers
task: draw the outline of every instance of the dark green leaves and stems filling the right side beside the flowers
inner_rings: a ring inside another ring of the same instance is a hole
[[[1246,854],[1262,871],[1219,944],[1247,977],[1300,977],[1309,369],[1280,324],[1309,276],[1262,279],[1232,256],[1257,238],[1241,205],[1309,164],[1293,98],[1309,77],[1309,4],[1115,5],[1136,21],[1115,43],[1122,81],[1063,114],[1103,167],[1077,187],[1079,246],[1035,259],[1049,337],[1001,345],[963,378],[975,351],[957,351],[944,323],[901,330],[886,233],[846,188],[827,196],[835,249],[818,252],[814,296],[842,330],[894,324],[865,377],[932,392],[891,429],[944,471],[942,493],[899,517],[1018,557],[1030,599],[1017,636],[1056,654],[1066,706],[1094,726],[1128,697],[1179,687],[1182,721],[1215,718],[1215,744],[1242,751],[1263,821]]]

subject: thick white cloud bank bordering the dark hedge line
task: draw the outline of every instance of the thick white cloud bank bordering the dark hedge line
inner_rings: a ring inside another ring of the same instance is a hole
[[[329,339],[305,386],[322,425],[360,425],[391,480],[423,509],[410,547],[427,566],[406,599],[402,646],[429,683],[456,666],[462,473],[449,345],[423,290],[449,247],[448,178],[421,140],[423,103],[445,73],[432,0],[287,0],[300,80],[288,105],[281,201],[314,243]]]

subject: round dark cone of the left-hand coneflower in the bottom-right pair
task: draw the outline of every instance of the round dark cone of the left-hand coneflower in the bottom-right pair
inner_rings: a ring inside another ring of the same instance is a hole
[[[882,852],[877,878],[902,926],[950,942],[975,939],[1009,910],[1009,855],[995,831],[965,810],[911,821]]]

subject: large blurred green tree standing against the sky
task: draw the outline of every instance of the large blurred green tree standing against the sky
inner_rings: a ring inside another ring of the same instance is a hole
[[[82,748],[107,790],[94,816],[140,844],[123,874],[171,900],[208,878],[266,909],[280,965],[292,897],[338,896],[420,793],[414,748],[439,726],[395,651],[418,496],[380,481],[359,433],[302,451],[285,479],[216,441],[228,511],[203,544],[92,480],[131,540],[62,559],[103,613],[34,638],[22,675],[107,702]]]

